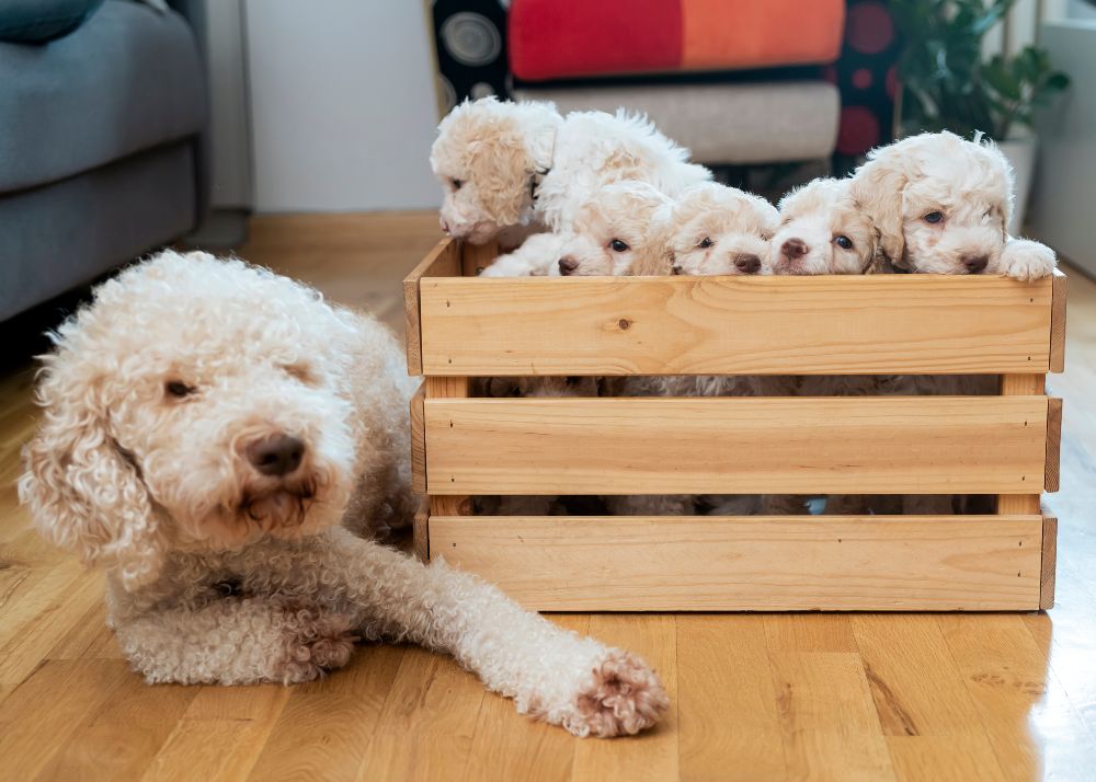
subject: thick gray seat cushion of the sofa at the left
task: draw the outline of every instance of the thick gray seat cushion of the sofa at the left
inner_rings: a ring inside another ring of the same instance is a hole
[[[205,112],[202,61],[186,22],[107,0],[47,46],[0,44],[0,193],[192,136]]]

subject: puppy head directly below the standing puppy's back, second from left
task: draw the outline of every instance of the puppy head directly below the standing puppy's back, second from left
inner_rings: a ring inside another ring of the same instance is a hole
[[[663,234],[669,207],[669,199],[646,182],[602,187],[575,215],[552,274],[669,273]]]

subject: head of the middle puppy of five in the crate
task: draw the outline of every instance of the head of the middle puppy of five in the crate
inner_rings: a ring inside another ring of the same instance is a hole
[[[705,182],[674,204],[667,245],[674,274],[768,274],[779,216],[760,196]]]

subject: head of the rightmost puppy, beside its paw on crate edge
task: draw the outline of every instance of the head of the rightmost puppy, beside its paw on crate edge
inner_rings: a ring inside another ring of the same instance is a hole
[[[850,192],[895,266],[933,274],[996,268],[1013,173],[993,143],[947,131],[902,139],[868,156]]]

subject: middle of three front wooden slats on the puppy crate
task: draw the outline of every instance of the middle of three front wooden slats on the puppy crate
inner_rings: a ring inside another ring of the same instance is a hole
[[[431,495],[1019,494],[1046,459],[1043,396],[427,396],[425,414]]]

